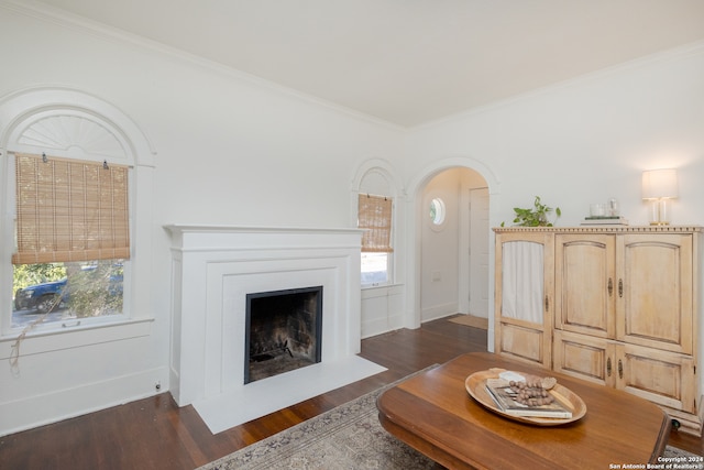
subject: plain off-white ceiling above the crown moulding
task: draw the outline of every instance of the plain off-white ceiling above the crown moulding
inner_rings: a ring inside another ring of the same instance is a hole
[[[704,39],[702,0],[42,0],[402,127]]]

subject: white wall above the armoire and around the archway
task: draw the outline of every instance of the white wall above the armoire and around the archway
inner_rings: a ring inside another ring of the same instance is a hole
[[[640,173],[680,168],[674,223],[704,221],[704,43],[592,74],[414,130],[406,174],[471,157],[501,182],[494,225],[539,195],[579,225],[590,203],[616,197],[647,223]]]

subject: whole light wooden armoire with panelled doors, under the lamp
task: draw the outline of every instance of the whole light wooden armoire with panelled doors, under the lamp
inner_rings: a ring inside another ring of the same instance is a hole
[[[496,228],[495,351],[702,434],[702,227]]]

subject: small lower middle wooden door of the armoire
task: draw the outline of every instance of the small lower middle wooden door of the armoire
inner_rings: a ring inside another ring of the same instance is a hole
[[[614,341],[561,330],[554,331],[553,339],[554,371],[600,385],[616,385]]]

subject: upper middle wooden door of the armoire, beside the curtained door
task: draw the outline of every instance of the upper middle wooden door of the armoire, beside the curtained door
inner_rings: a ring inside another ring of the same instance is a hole
[[[615,335],[615,237],[556,236],[554,324],[600,338]]]

